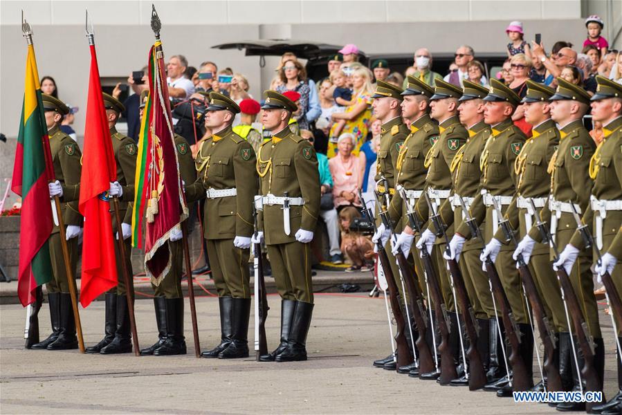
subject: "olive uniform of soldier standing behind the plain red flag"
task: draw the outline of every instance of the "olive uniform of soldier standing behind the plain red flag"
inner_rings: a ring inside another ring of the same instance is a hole
[[[132,212],[132,202],[134,201],[134,181],[136,180],[136,157],[138,156],[138,147],[136,147],[136,142],[129,138],[128,136],[124,136],[122,133],[119,133],[115,127],[110,129],[110,136],[112,138],[112,151],[114,153],[114,158],[117,165],[117,181],[122,187],[123,193],[119,199],[119,214],[122,220],[122,223],[127,223],[131,225],[131,212]],[[121,230],[119,229],[116,223],[116,214],[111,208],[111,216],[112,216],[112,230],[113,234],[119,232],[119,237],[121,237]],[[127,238],[123,241],[125,244],[125,268],[127,269],[127,273],[130,276],[133,275],[131,269],[131,238]],[[111,293],[116,293],[117,295],[125,295],[127,288],[125,287],[125,278],[123,277],[123,269],[121,264],[121,257],[119,254],[119,245],[115,240],[114,243],[114,252],[117,263],[117,279],[118,284],[115,288],[111,289]],[[133,281],[132,286],[130,288],[132,295],[134,295],[134,284]]]

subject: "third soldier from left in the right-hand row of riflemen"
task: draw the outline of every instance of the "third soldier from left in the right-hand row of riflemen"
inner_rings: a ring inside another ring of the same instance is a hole
[[[443,223],[451,223],[446,229],[447,237],[453,236],[453,212],[451,208],[442,212],[439,210],[441,205],[448,199],[452,187],[452,173],[450,166],[452,160],[455,158],[458,150],[464,145],[468,138],[468,132],[460,124],[460,120],[457,116],[458,113],[458,99],[462,96],[462,90],[455,85],[452,85],[443,80],[437,80],[434,95],[430,98],[430,116],[439,122],[439,138],[436,140],[428,154],[426,154],[426,160],[424,167],[428,169],[428,176],[426,176],[426,192],[432,201],[432,208],[436,212],[441,214],[441,220]],[[415,207],[417,214],[421,214],[423,221],[428,221],[428,218],[434,214],[428,208],[426,198],[420,198],[417,201]],[[428,228],[421,233],[421,239],[417,241],[417,248],[427,249],[432,257],[432,262],[435,265],[436,275],[439,278],[439,286],[441,287],[441,295],[450,313],[450,348],[455,360],[459,360],[459,335],[458,335],[458,320],[455,313],[455,300],[452,295],[452,290],[449,282],[449,275],[447,272],[445,261],[443,260],[443,251],[445,250],[445,239],[436,237],[436,229],[434,224],[430,221]],[[432,248],[433,247],[433,248]],[[430,276],[428,275],[428,278]],[[440,317],[438,321],[440,320]],[[464,365],[461,366],[464,368]],[[459,376],[461,374],[459,373]],[[436,371],[428,374],[421,374],[421,379],[435,379],[438,377]]]

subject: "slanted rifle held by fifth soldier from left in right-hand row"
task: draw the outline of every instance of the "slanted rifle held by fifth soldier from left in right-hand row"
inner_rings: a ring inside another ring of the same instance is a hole
[[[462,203],[464,203],[464,201]],[[477,223],[475,223],[475,219],[470,216],[468,209],[463,208],[462,212],[464,213],[465,222],[470,232],[485,245],[486,241],[484,241],[482,232],[479,232],[479,227]],[[514,320],[510,302],[503,289],[503,284],[501,283],[501,278],[499,277],[499,273],[497,273],[495,264],[490,257],[486,257],[484,264],[486,264],[486,274],[488,274],[491,291],[500,304],[503,326],[511,346],[509,360],[513,371],[512,389],[513,391],[527,391],[531,388],[531,377],[529,376],[525,362],[523,362],[518,353],[520,350],[520,331],[518,330],[518,325],[516,324],[516,320]],[[531,362],[529,362],[529,365],[531,365]]]

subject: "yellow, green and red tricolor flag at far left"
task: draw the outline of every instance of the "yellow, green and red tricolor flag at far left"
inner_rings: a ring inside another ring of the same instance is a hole
[[[48,181],[54,177],[54,171],[33,45],[28,45],[24,84],[11,190],[21,196],[17,294],[21,304],[27,306],[35,301],[35,289],[52,279]]]

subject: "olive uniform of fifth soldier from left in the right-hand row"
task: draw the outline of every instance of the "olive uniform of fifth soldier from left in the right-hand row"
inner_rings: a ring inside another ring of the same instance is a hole
[[[482,190],[493,196],[513,197],[516,192],[517,174],[514,170],[515,159],[525,142],[525,136],[516,127],[511,118],[492,126],[492,133],[486,140],[479,167],[482,169]],[[502,206],[502,209],[504,206]],[[484,241],[488,243],[497,229],[493,221],[493,206],[486,206],[482,192],[475,196],[470,205],[470,214],[477,225],[485,220]],[[501,219],[501,218],[499,218]],[[473,237],[466,222],[459,225],[457,233],[469,239]],[[505,238],[502,239],[502,242]],[[512,308],[516,322],[529,324],[527,304],[522,294],[520,275],[512,258],[514,246],[502,246],[495,261],[495,268],[500,275],[506,296]]]

